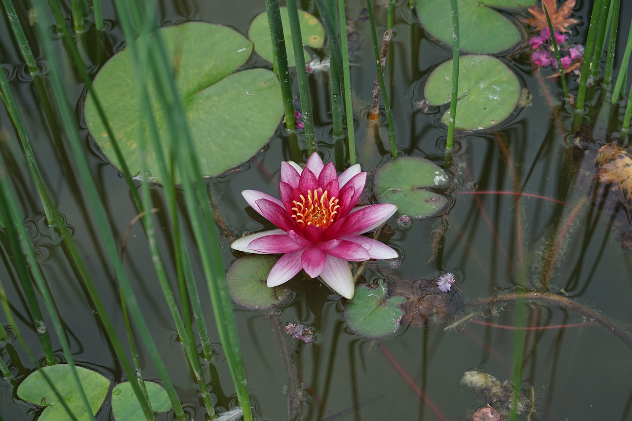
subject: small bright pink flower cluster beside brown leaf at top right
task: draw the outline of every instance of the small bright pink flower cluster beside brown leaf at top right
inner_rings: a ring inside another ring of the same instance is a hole
[[[568,35],[561,34],[556,30],[553,31],[559,49],[560,61],[562,69],[567,69],[573,62],[581,60],[584,55],[584,47],[580,44],[569,46]],[[551,41],[551,33],[549,28],[540,31],[540,35],[534,35],[529,39],[529,46],[533,49],[531,53],[531,61],[536,66],[546,67],[552,65],[557,69],[557,59]]]

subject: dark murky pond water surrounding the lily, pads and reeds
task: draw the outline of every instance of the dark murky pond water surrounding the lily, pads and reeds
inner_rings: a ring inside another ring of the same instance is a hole
[[[311,3],[302,3],[307,9],[313,7]],[[622,3],[621,26],[626,28],[632,16],[632,4]],[[359,16],[364,6],[362,1],[347,2],[348,18]],[[591,7],[590,1],[578,2],[575,13],[583,23],[571,32],[573,42],[584,42]],[[109,54],[113,54],[124,47],[123,36],[111,4],[105,2],[104,8]],[[161,3],[159,15],[164,25],[200,20],[222,23],[246,34],[250,21],[263,10],[262,1],[176,1],[173,4]],[[382,34],[386,28],[386,12],[376,8],[375,16]],[[8,74],[11,88],[18,98],[47,185],[54,193],[59,211],[73,229],[75,241],[97,281],[99,293],[106,300],[107,311],[123,338],[125,329],[118,286],[97,235],[98,227],[86,211],[85,192],[75,183],[78,173],[71,164],[70,149],[66,146],[64,134],[51,128],[44,116],[16,43],[9,34],[6,18],[3,22],[0,28],[3,70]],[[375,168],[388,161],[389,144],[386,120],[380,120],[377,131],[367,122],[375,66],[368,23],[361,22],[357,30],[362,51],[353,59],[356,65],[351,68],[356,149],[358,161],[372,174]],[[415,15],[402,1],[396,2],[394,32],[396,35],[389,52],[386,76],[399,152],[427,157],[441,164],[446,138],[446,128],[439,123],[443,109],[441,113],[437,109],[434,113],[423,114],[415,111],[413,103],[422,99],[422,88],[430,71],[448,59],[451,51],[428,39]],[[619,44],[627,35],[626,30],[621,32]],[[62,49],[61,45],[59,49]],[[617,49],[617,57],[622,54],[623,46]],[[401,264],[396,268],[384,262],[369,264],[365,277],[368,281],[377,278],[432,279],[442,272],[451,271],[458,277],[459,288],[463,291],[459,295],[470,303],[483,302],[497,293],[511,291],[519,284],[538,289],[546,278],[550,292],[563,290],[574,302],[628,329],[631,322],[632,259],[616,241],[621,228],[609,224],[611,214],[595,214],[590,205],[578,205],[586,198],[583,186],[590,184],[586,178],[594,175],[595,170],[593,162],[589,161],[590,156],[587,156],[581,168],[588,173],[592,171],[592,175],[576,171],[576,160],[573,161],[573,148],[570,146],[573,142],[570,136],[573,114],[563,109],[559,112],[559,107],[552,108],[547,102],[559,102],[559,81],[534,73],[528,61],[526,44],[503,57],[518,74],[523,87],[533,95],[531,105],[518,109],[495,128],[463,133],[458,137],[453,166],[458,188],[452,194],[453,204],[449,212],[442,217],[416,221],[408,229],[392,223],[395,231],[391,245],[401,254]],[[89,54],[85,59],[90,60]],[[40,63],[46,65],[46,60],[40,60]],[[254,57],[248,63],[249,66],[258,64],[267,65]],[[94,73],[98,70],[95,63],[90,68]],[[310,77],[319,152],[327,161],[334,159],[336,143],[330,134],[327,84],[322,73],[314,73]],[[573,78],[568,80],[571,91],[576,90]],[[70,71],[66,73],[66,87],[76,109],[80,110],[84,87]],[[547,97],[550,99],[547,100]],[[594,125],[596,114],[596,111],[586,114],[582,123]],[[15,157],[6,171],[20,190],[23,219],[56,299],[73,355],[77,362],[121,381],[124,374],[112,357],[111,347],[94,308],[86,299],[85,291],[59,245],[59,236],[46,227],[37,192],[28,181],[28,171],[23,164],[16,135],[4,111],[0,113],[0,123],[0,138],[3,140],[0,147],[6,156]],[[613,129],[618,130],[618,127]],[[121,240],[137,213],[128,186],[95,147],[87,131],[83,134],[85,145],[92,154],[92,173],[97,180],[109,223]],[[617,133],[613,136],[617,137]],[[264,152],[243,164],[240,171],[209,180],[210,191],[228,226],[238,231],[262,228],[264,221],[261,218],[251,219],[253,212],[246,212],[246,203],[240,192],[250,188],[277,195],[280,161],[295,158],[289,154],[287,142],[288,139],[279,130]],[[339,168],[344,166],[339,161],[336,164]],[[472,194],[474,192],[504,193]],[[511,192],[540,197],[518,198],[506,194]],[[164,208],[162,189],[155,186],[152,194],[155,207]],[[621,212],[619,209],[619,217]],[[271,228],[269,223],[264,223],[264,227]],[[564,230],[564,240],[553,252],[557,257],[556,264],[548,267],[543,262],[547,262],[550,252],[544,245],[554,229]],[[440,247],[434,254],[434,238],[441,230]],[[173,265],[169,266],[172,262],[169,259],[171,236],[166,228],[158,229],[157,235],[161,250],[166,255],[169,276],[175,279]],[[193,234],[187,235],[189,246],[195,247]],[[164,298],[156,287],[146,240],[142,226],[136,224],[128,240],[125,269],[135,283],[140,305],[150,321],[152,335],[159,344],[159,351],[181,400],[195,419],[202,420],[202,401],[196,393],[183,350],[176,341],[176,331]],[[228,239],[222,240],[226,267],[234,260],[229,244]],[[6,248],[2,249],[1,255],[0,281],[11,312],[30,349],[40,358],[42,355],[37,351],[37,337],[28,322],[25,301],[17,292],[20,288],[11,256]],[[203,279],[200,264],[193,263],[196,274]],[[522,276],[519,276],[520,273]],[[234,310],[249,391],[258,419],[288,418],[288,370],[280,352],[279,340],[272,333],[275,322],[305,323],[313,327],[317,336],[314,345],[300,346],[294,355],[299,372],[298,379],[294,381],[303,387],[309,398],[308,405],[301,412],[305,420],[459,420],[468,419],[468,416],[471,419],[471,409],[485,403],[459,384],[463,372],[480,369],[501,381],[512,377],[514,338],[517,333],[523,332],[513,328],[517,317],[514,302],[496,303],[491,307],[468,307],[456,318],[474,313],[472,321],[450,331],[444,331],[444,327],[456,319],[429,327],[403,328],[390,338],[370,340],[349,333],[341,315],[343,303],[327,288],[316,281],[300,287],[293,301],[283,308],[276,320],[239,307]],[[205,288],[202,283],[200,288]],[[208,296],[202,295],[202,300],[207,308],[205,317],[210,336],[217,338]],[[632,350],[623,341],[599,326],[595,319],[580,314],[572,307],[533,301],[526,303],[525,313],[526,326],[551,327],[527,330],[522,350],[522,380],[528,387],[533,386],[536,403],[532,420],[632,419],[632,387],[629,383]],[[6,325],[6,318],[0,320]],[[235,401],[233,384],[219,339],[214,341],[217,355],[210,370],[217,380],[212,382],[213,392],[218,405],[228,408]],[[59,349],[57,341],[54,341],[54,348]],[[18,354],[23,367],[15,364],[15,358],[11,360],[11,367],[19,380],[33,369],[33,365],[26,354]],[[0,348],[0,355],[6,362],[9,361],[6,349]],[[157,372],[145,350],[140,350],[140,359],[143,374],[149,379],[156,379]],[[32,405],[16,398],[15,387],[15,381],[3,379],[0,382],[0,413],[3,419],[33,419],[29,410]],[[161,415],[160,419],[166,417],[171,415]],[[107,408],[97,418],[112,419]],[[521,419],[527,419],[526,415]]]

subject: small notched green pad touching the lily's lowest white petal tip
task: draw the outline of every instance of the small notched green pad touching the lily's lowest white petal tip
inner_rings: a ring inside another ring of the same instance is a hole
[[[384,338],[398,331],[404,302],[403,296],[389,296],[388,287],[382,281],[375,288],[358,285],[353,300],[344,307],[344,321],[358,336]]]

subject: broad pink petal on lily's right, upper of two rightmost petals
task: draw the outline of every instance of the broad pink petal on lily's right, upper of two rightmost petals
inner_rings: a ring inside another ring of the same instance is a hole
[[[336,221],[325,235],[325,240],[347,234],[366,233],[386,222],[396,210],[397,206],[389,203],[368,205],[354,210],[348,216]]]

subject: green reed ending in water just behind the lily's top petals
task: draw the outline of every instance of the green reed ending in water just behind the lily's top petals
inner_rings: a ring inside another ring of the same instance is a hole
[[[294,61],[296,64],[296,80],[298,81],[298,95],[301,99],[301,111],[303,111],[303,122],[305,123],[305,140],[307,141],[307,156],[318,150],[316,143],[316,132],[312,112],[312,95],[307,82],[307,71],[305,70],[305,56],[303,52],[303,37],[298,21],[298,8],[296,0],[289,0],[286,4],[289,16],[289,30],[292,34],[292,47],[294,49]]]

